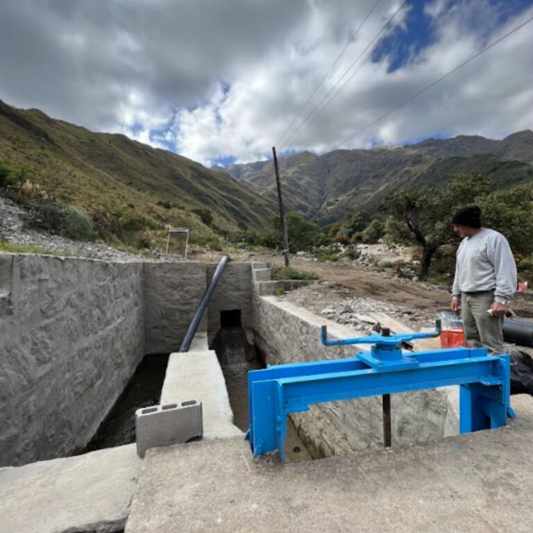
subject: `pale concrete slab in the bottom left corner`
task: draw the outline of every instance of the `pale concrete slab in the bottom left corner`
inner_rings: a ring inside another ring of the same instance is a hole
[[[107,533],[130,511],[142,459],[135,444],[0,468],[2,533]]]

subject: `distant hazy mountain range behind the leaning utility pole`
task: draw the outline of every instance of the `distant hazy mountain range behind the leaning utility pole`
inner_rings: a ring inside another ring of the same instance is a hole
[[[374,211],[384,196],[413,185],[434,185],[462,172],[479,170],[496,187],[533,181],[533,132],[501,141],[459,135],[406,146],[371,150],[302,152],[279,159],[284,203],[319,223],[346,217],[355,209]],[[262,196],[276,200],[271,161],[217,167]]]

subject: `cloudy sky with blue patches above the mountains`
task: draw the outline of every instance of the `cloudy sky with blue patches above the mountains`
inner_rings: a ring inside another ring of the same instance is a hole
[[[349,139],[533,17],[533,0],[402,2],[0,0],[0,99],[206,165],[533,128],[532,22]]]

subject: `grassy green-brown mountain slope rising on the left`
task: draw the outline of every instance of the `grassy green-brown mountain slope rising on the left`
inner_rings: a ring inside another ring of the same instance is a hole
[[[62,204],[87,214],[120,213],[153,228],[171,224],[197,235],[258,229],[276,210],[267,197],[224,172],[124,135],[94,133],[2,101],[0,160],[27,167],[31,181]],[[205,210],[211,212],[210,228],[202,221]]]

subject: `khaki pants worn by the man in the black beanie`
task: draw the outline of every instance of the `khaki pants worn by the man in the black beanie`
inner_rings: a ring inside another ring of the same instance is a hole
[[[487,348],[489,355],[505,353],[503,347],[503,317],[487,313],[494,301],[494,291],[464,292],[461,296],[461,316],[466,344],[472,348]]]

